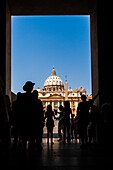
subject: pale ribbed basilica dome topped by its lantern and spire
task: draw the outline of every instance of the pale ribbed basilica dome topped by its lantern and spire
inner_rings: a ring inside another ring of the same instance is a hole
[[[54,67],[53,67],[53,70],[52,70],[52,72],[51,72],[51,76],[49,76],[49,77],[46,79],[45,83],[44,83],[44,88],[46,88],[46,87],[51,87],[51,86],[52,86],[52,87],[53,87],[53,86],[64,87],[63,81],[61,80],[60,77],[58,77],[58,76],[56,75],[56,71],[55,71]]]

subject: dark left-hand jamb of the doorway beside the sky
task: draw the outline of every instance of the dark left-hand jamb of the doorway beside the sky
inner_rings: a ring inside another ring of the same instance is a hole
[[[11,16],[6,0],[0,1],[0,81],[11,98]]]

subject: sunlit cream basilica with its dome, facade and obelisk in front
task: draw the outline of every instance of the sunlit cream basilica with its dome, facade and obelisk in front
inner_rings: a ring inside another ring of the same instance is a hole
[[[77,106],[81,101],[81,95],[86,95],[86,89],[83,87],[76,88],[76,90],[72,90],[71,87],[68,88],[67,80],[65,80],[64,86],[61,78],[56,75],[54,67],[51,75],[44,83],[44,88],[40,89],[38,87],[37,90],[39,99],[41,99],[43,103],[44,110],[46,110],[48,104],[51,104],[53,111],[59,111],[59,106],[64,105],[64,101],[68,100],[73,114],[76,114],[77,112]],[[90,98],[91,96],[87,96],[87,100]]]

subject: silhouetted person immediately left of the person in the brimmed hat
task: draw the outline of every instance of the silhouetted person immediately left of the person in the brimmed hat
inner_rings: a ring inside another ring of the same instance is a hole
[[[22,93],[17,93],[17,99],[12,103],[12,115],[13,115],[13,135],[14,144],[17,145],[21,139],[21,115],[22,112]]]

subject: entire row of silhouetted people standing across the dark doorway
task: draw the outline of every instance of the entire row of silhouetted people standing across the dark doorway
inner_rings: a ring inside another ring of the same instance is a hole
[[[23,86],[25,93],[18,92],[17,99],[12,105],[8,95],[4,96],[0,89],[0,143],[5,143],[5,146],[10,145],[13,136],[14,146],[23,145],[26,151],[28,142],[30,152],[41,151],[44,126],[47,128],[47,144],[51,136],[51,145],[53,145],[55,119],[58,119],[58,141],[71,143],[73,139],[75,141],[81,139],[81,148],[96,143],[99,123],[103,128],[110,128],[111,121],[108,114],[111,114],[112,104],[102,105],[99,111],[93,104],[99,93],[89,101],[85,95],[82,95],[77,107],[77,115],[74,115],[69,101],[64,101],[64,106],[60,105],[57,113],[52,110],[50,104],[44,111],[42,101],[38,99],[38,91],[33,90],[33,86],[34,83],[27,81]],[[59,115],[57,118],[56,114]]]

